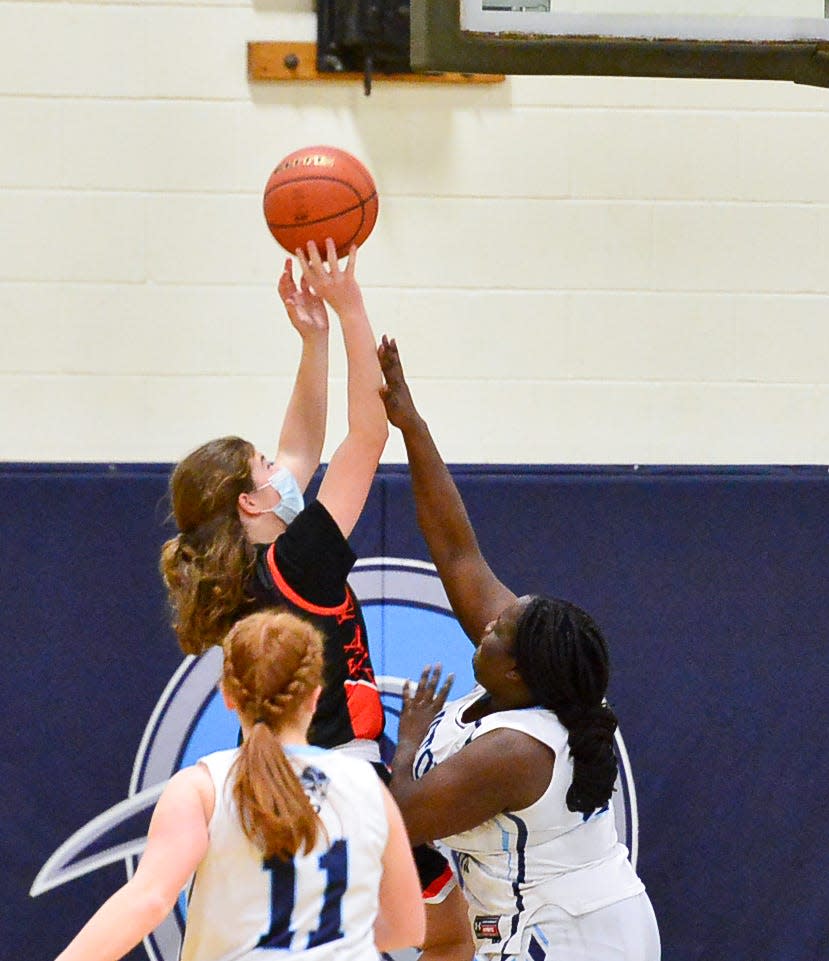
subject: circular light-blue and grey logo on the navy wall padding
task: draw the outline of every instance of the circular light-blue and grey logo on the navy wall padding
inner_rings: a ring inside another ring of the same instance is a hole
[[[397,738],[404,680],[418,678],[425,664],[439,662],[445,674],[455,674],[453,693],[464,694],[474,684],[472,649],[452,615],[434,565],[407,558],[367,558],[357,562],[349,581],[363,605],[383,692],[382,750],[389,759]],[[216,688],[221,661],[219,648],[182,661],[147,721],[127,797],[60,845],[38,872],[29,892],[32,897],[119,861],[124,862],[127,877],[132,877],[146,844],[149,816],[167,780],[202,755],[237,743],[236,716],[225,708]],[[635,867],[636,793],[618,731],[616,748],[620,762],[616,827]],[[178,961],[185,917],[182,895],[175,910],[144,941],[150,961]]]

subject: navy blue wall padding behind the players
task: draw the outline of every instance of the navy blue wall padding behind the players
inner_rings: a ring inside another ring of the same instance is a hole
[[[50,854],[126,797],[181,663],[157,572],[168,473],[0,469],[10,958],[54,956],[125,879],[121,862],[28,895]],[[665,961],[829,957],[826,468],[453,473],[495,573],[605,629]],[[352,544],[428,560],[405,468],[381,469]],[[383,644],[372,639],[376,662]]]

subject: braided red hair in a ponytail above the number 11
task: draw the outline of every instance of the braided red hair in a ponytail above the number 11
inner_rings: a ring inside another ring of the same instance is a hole
[[[324,830],[279,740],[320,684],[322,643],[312,624],[277,609],[249,614],[224,641],[222,685],[248,728],[233,798],[247,837],[283,861],[310,851]]]

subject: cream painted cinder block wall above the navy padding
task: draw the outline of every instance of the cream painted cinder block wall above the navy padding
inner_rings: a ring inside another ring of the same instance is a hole
[[[0,0],[0,459],[272,445],[299,344],[261,192],[332,143],[447,460],[829,461],[829,90],[248,83],[248,40],[315,35],[311,0]]]

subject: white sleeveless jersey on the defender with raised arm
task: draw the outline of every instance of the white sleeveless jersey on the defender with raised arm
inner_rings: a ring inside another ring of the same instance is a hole
[[[558,718],[543,708],[525,708],[465,724],[463,712],[484,693],[476,687],[435,718],[415,758],[414,776],[423,777],[497,728],[522,731],[555,752],[550,785],[538,801],[441,839],[469,902],[477,953],[525,954],[529,929],[544,924],[550,906],[586,914],[632,897],[644,885],[619,843],[612,806],[590,815],[568,809],[573,761],[567,729]],[[510,777],[509,758],[504,758],[503,776]],[[474,791],[474,784],[469,789]]]

